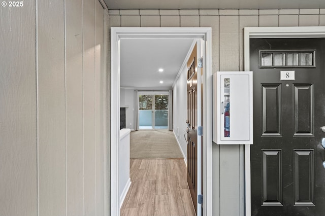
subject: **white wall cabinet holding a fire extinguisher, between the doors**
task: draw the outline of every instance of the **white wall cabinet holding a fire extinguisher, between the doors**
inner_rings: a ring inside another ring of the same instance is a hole
[[[213,75],[213,141],[253,143],[252,71],[218,71]]]

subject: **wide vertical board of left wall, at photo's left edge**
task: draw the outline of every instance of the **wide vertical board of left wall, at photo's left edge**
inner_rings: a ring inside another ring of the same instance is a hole
[[[0,15],[0,215],[37,215],[35,1]]]

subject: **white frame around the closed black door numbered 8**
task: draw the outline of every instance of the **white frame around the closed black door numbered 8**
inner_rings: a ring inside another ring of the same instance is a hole
[[[308,27],[246,27],[244,28],[244,68],[249,68],[249,39],[252,38],[325,38],[325,26]],[[254,71],[253,71],[254,76]],[[250,145],[245,145],[245,205],[251,215]]]

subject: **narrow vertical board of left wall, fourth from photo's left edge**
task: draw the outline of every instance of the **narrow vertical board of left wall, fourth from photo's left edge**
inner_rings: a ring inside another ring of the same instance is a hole
[[[84,215],[95,215],[95,9],[83,1]]]

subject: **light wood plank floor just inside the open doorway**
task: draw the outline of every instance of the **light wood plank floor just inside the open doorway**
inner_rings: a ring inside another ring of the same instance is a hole
[[[182,159],[131,159],[122,216],[194,216]]]

